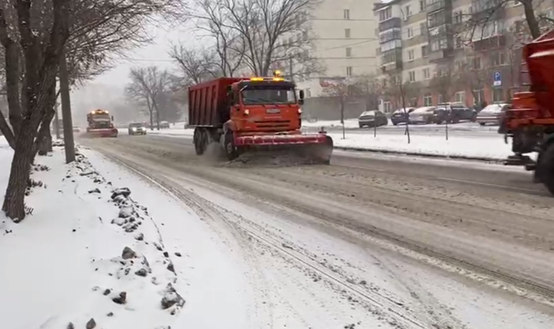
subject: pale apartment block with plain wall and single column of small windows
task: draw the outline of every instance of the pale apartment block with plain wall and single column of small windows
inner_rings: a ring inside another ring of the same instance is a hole
[[[379,68],[372,8],[375,0],[322,0],[311,13],[310,25],[315,34],[311,55],[323,70],[295,76],[307,97],[324,96],[324,86],[333,81],[353,81],[372,75]]]

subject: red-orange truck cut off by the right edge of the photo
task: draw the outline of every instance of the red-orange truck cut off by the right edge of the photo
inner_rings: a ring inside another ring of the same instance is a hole
[[[515,153],[506,165],[534,171],[534,181],[554,195],[554,30],[526,44],[523,58],[530,83],[517,87],[499,128],[506,142],[512,138]],[[538,153],[536,161],[525,156],[531,152]]]

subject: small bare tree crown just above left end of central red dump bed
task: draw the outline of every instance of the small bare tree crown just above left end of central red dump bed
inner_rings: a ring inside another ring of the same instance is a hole
[[[215,53],[207,49],[187,49],[182,44],[174,45],[169,55],[181,71],[181,84],[199,84],[219,75]]]

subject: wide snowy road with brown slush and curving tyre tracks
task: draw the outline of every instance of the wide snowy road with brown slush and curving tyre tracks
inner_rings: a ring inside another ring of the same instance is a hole
[[[554,202],[529,173],[338,151],[331,166],[225,167],[184,138],[80,142],[228,241],[250,269],[248,327],[554,327]]]

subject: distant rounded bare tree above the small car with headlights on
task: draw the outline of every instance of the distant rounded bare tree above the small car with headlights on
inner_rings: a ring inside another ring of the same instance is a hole
[[[125,88],[127,97],[145,101],[150,114],[150,128],[153,129],[153,116],[156,114],[157,129],[160,130],[160,96],[170,90],[174,77],[167,70],[148,66],[132,68],[129,78],[131,83]]]

